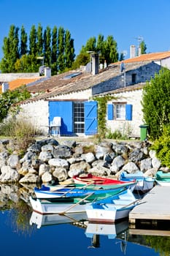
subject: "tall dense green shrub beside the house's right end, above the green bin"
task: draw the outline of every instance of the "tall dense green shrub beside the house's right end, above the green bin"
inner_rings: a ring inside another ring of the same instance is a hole
[[[170,70],[163,68],[146,83],[142,95],[144,123],[149,125],[150,140],[159,138],[170,123]]]

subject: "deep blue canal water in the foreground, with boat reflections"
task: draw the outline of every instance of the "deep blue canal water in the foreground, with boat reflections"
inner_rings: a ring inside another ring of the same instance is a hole
[[[85,214],[42,216],[24,203],[1,207],[0,230],[1,256],[170,255],[169,235],[133,235],[127,220],[104,225],[88,222]]]

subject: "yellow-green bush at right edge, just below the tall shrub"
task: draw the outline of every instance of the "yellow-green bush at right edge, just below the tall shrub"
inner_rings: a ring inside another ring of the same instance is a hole
[[[161,164],[170,167],[170,126],[163,127],[163,134],[151,146]]]

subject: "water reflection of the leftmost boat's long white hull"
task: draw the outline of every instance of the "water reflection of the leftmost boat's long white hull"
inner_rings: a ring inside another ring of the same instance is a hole
[[[30,225],[36,225],[37,228],[45,227],[48,225],[59,225],[72,222],[80,222],[88,219],[85,212],[78,214],[39,214],[36,211],[33,211],[29,221]]]

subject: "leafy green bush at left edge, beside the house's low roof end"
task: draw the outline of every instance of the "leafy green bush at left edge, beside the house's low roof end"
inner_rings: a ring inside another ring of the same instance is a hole
[[[21,86],[13,91],[7,90],[3,94],[0,94],[0,122],[7,117],[12,105],[29,97],[31,97],[31,94],[26,90],[25,86]]]

